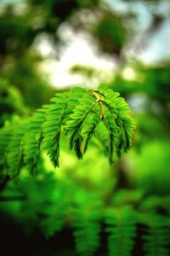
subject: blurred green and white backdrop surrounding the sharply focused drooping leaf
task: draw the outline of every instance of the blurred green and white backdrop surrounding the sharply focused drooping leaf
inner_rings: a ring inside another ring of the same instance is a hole
[[[71,230],[93,211],[102,224],[94,255],[113,255],[100,216],[111,207],[169,220],[170,2],[0,1],[1,127],[15,115],[29,118],[56,91],[103,83],[132,109],[133,148],[110,166],[99,147],[79,161],[63,142],[59,169],[42,152],[35,177],[24,168],[16,180],[2,177],[3,255],[78,255]],[[144,255],[141,232],[132,255]]]

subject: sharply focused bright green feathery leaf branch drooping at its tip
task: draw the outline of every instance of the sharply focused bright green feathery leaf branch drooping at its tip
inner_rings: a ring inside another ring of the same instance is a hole
[[[29,121],[14,120],[0,131],[3,168],[10,177],[17,175],[23,165],[34,173],[41,148],[47,151],[54,167],[59,166],[59,140],[63,134],[68,137],[69,148],[82,159],[99,123],[102,127],[98,132],[106,134],[104,148],[112,163],[116,154],[127,152],[132,144],[135,125],[125,100],[105,86],[58,93]]]

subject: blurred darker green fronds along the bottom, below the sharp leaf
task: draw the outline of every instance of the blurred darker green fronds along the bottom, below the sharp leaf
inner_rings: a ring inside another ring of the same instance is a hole
[[[136,246],[139,255],[169,255],[169,195],[148,196],[124,189],[115,191],[108,203],[101,198],[100,189],[81,189],[70,179],[54,177],[54,172],[20,178],[17,189],[10,184],[8,194],[3,192],[3,196],[9,195],[21,195],[15,218],[27,232],[38,226],[49,239],[71,230],[73,255],[98,255],[104,243],[101,255],[134,255]]]

